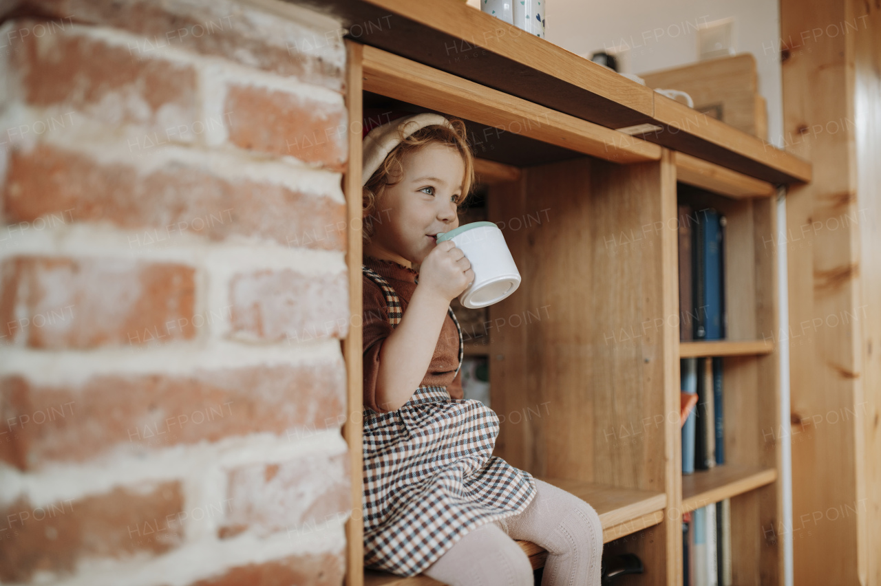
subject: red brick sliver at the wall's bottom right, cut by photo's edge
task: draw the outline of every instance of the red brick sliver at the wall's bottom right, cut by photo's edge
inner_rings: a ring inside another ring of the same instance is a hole
[[[222,575],[193,582],[191,586],[339,586],[344,576],[342,551],[304,553],[233,568]]]

